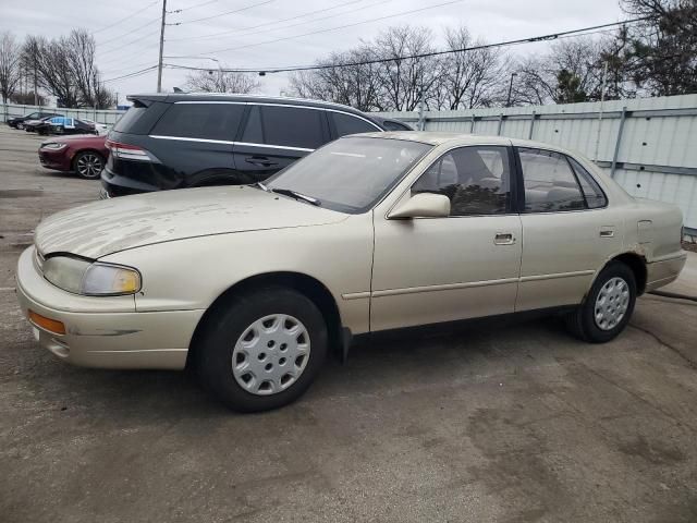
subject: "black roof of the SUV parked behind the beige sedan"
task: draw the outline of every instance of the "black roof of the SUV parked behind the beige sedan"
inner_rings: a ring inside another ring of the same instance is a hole
[[[322,109],[333,109],[337,111],[350,112],[358,114],[363,118],[369,118],[376,121],[370,114],[354,109],[342,104],[331,101],[310,100],[307,98],[294,98],[290,96],[267,96],[252,94],[234,94],[234,93],[155,93],[142,95],[129,95],[129,100],[151,100],[174,104],[178,101],[237,101],[237,102],[256,102],[256,104],[278,104],[286,106],[304,106],[316,107]],[[377,122],[379,123],[379,122]]]

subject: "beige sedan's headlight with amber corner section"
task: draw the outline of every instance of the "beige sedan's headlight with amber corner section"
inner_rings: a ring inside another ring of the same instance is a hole
[[[44,278],[64,291],[86,296],[120,296],[140,290],[136,269],[71,256],[46,258]]]

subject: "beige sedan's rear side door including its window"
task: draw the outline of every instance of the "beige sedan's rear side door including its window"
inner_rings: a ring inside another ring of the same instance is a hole
[[[623,219],[579,163],[517,148],[523,174],[523,256],[516,311],[580,303],[622,244]]]

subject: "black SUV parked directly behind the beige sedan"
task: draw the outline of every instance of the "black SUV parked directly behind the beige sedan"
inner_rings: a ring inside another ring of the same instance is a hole
[[[109,133],[103,197],[255,183],[345,134],[383,131],[346,106],[253,95],[135,95]]]

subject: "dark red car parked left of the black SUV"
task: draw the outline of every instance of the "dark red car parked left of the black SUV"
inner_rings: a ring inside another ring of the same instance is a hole
[[[81,178],[97,180],[107,163],[107,136],[62,136],[47,139],[39,147],[39,161],[47,169],[73,171]]]

